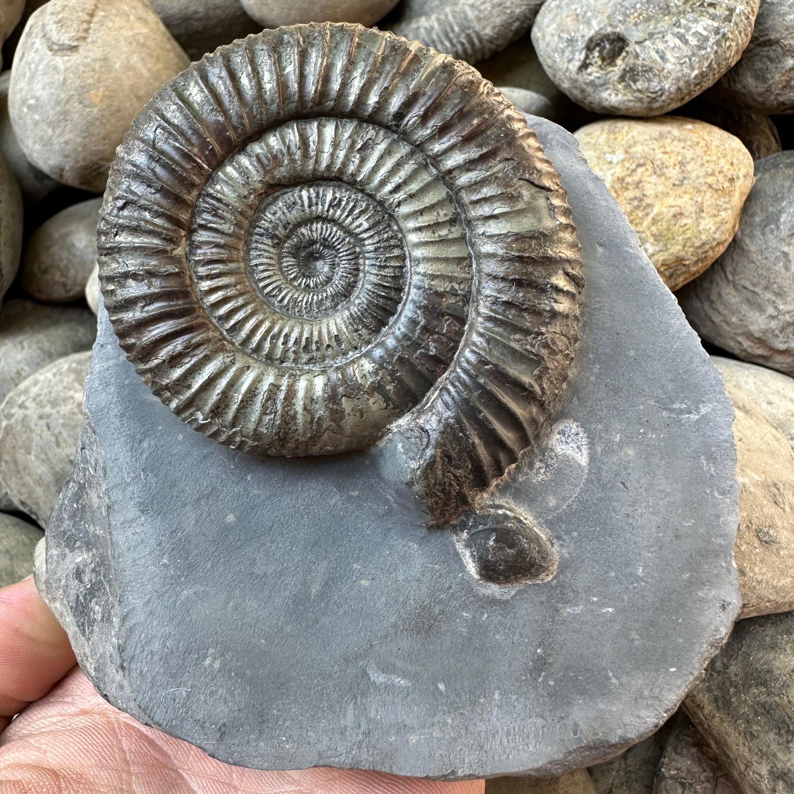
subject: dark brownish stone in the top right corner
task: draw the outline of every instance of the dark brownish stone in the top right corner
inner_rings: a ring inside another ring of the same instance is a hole
[[[792,74],[794,6],[790,0],[762,0],[750,43],[717,89],[758,113],[794,113]]]

